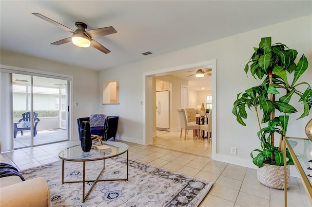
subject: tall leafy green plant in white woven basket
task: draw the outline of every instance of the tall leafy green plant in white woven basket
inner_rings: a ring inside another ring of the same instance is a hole
[[[259,47],[254,48],[254,54],[245,66],[245,72],[248,74],[250,71],[255,79],[263,80],[263,82],[260,86],[238,93],[232,111],[236,120],[246,126],[243,121],[247,119],[246,109],[254,109],[261,149],[253,150],[251,157],[259,168],[258,180],[276,189],[284,189],[284,160],[283,146],[281,146],[283,142],[281,140],[287,133],[289,115],[297,112],[290,101],[296,98],[298,102],[302,102],[304,112],[298,119],[307,116],[311,109],[311,104],[304,101],[312,96],[311,86],[306,82],[297,83],[308,68],[308,61],[302,54],[296,64],[294,61],[297,54],[296,50],[289,49],[282,43],[271,45],[271,37],[261,38]],[[291,78],[292,82],[289,81]],[[297,88],[304,88],[305,91],[301,92]],[[280,116],[275,116],[275,111],[280,112],[278,113]],[[262,116],[261,119],[260,116]],[[276,146],[275,134],[280,135],[280,142]],[[287,177],[290,179],[289,165],[293,165],[293,161],[288,149],[286,149],[286,155],[288,158]]]

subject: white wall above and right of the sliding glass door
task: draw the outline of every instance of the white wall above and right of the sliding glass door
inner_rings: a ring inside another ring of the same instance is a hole
[[[71,139],[78,138],[77,119],[88,117],[90,114],[98,113],[98,71],[86,68],[79,68],[67,64],[58,63],[38,57],[32,57],[20,53],[1,50],[1,65],[20,67],[25,69],[34,69],[58,74],[72,75],[73,100],[70,107],[73,108],[71,118]],[[77,102],[78,106],[74,106]]]

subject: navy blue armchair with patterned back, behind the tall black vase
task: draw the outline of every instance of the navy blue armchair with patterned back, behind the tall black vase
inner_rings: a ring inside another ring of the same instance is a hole
[[[90,115],[92,117],[92,115]],[[103,116],[99,116],[102,119]],[[107,141],[110,138],[116,138],[117,134],[117,126],[118,126],[118,119],[119,117],[117,116],[110,116],[110,117],[105,117],[103,121],[102,126],[96,126],[99,124],[98,121],[96,125],[92,125],[93,121],[90,122],[90,130],[91,130],[91,135],[98,135],[102,137],[103,141]],[[81,123],[82,121],[90,121],[90,117],[84,117],[84,118],[78,118],[77,123],[78,123],[78,134],[79,134],[79,140],[81,140]],[[93,127],[91,127],[93,126]]]

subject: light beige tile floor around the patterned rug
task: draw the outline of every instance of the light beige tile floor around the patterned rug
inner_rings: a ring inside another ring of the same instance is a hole
[[[212,189],[200,207],[283,207],[284,190],[262,185],[256,170],[211,160],[211,143],[207,139],[179,138],[180,132],[158,132],[151,145],[126,142],[129,157],[174,172],[184,173],[210,182]],[[2,153],[20,170],[58,161],[59,151],[77,145],[79,141],[64,141],[38,147]],[[291,177],[288,189],[289,207],[309,207],[310,200],[299,178]]]

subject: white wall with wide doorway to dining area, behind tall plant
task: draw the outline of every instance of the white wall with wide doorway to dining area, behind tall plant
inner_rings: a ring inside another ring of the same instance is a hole
[[[246,76],[244,66],[253,54],[253,48],[257,47],[261,37],[265,36],[272,36],[273,43],[282,42],[289,48],[296,49],[299,52],[298,56],[304,53],[311,64],[301,81],[312,83],[312,16],[308,16],[103,70],[100,72],[100,81],[119,77],[121,100],[119,106],[102,106],[101,111],[112,112],[122,117],[120,133],[123,138],[138,143],[144,142],[145,129],[142,129],[144,108],[138,104],[145,96],[143,94],[145,79],[142,73],[216,59],[217,107],[214,110],[216,110],[217,137],[213,140],[216,144],[216,159],[253,167],[249,154],[254,148],[259,147],[254,115],[249,114],[250,119],[246,121],[248,127],[243,127],[236,122],[232,107],[237,93],[260,84],[252,77]],[[302,120],[294,121],[295,118],[290,120],[288,135],[305,137],[304,126],[311,117],[312,113]],[[237,147],[237,155],[230,154],[231,146]]]

